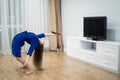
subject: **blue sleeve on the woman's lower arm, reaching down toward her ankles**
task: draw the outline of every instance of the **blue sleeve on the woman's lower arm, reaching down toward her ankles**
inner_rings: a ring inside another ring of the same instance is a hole
[[[31,45],[30,45],[30,48],[29,48],[29,50],[28,50],[27,55],[32,56],[33,51],[35,50],[35,48],[36,48],[39,44],[40,44],[40,43],[39,43],[39,40],[33,39],[33,40],[31,41]]]

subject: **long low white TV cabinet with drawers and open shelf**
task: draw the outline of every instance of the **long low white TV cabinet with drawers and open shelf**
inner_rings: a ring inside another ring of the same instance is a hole
[[[120,73],[120,42],[68,37],[67,55]]]

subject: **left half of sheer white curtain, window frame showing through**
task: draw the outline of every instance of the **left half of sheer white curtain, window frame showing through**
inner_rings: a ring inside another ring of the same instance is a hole
[[[0,0],[0,52],[11,54],[15,34],[24,29],[24,0]]]

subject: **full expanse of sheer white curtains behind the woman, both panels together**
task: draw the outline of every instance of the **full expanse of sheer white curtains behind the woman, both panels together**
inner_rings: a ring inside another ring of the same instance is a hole
[[[0,0],[0,53],[11,54],[12,38],[23,30],[48,32],[47,4],[47,0]]]

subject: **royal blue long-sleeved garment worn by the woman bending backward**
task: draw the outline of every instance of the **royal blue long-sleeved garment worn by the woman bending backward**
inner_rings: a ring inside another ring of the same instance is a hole
[[[24,45],[25,42],[27,42],[28,44],[30,44],[30,48],[27,54],[31,56],[34,49],[40,44],[38,38],[43,37],[45,37],[44,33],[36,35],[32,32],[27,31],[15,35],[12,41],[12,54],[15,57],[21,57],[21,47]]]

